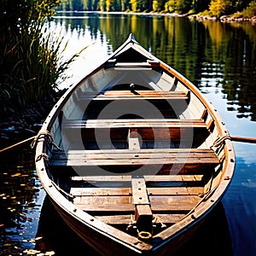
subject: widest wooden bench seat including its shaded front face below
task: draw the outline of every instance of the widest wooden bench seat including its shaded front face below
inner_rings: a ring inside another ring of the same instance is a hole
[[[99,166],[110,172],[131,172],[143,166],[143,172],[201,172],[219,164],[218,156],[206,148],[155,148],[106,149],[106,150],[69,150],[56,152],[50,157],[50,166],[71,166],[84,168],[90,175]],[[86,168],[88,167],[88,168]],[[152,173],[151,173],[152,172]],[[143,173],[145,174],[145,173]]]

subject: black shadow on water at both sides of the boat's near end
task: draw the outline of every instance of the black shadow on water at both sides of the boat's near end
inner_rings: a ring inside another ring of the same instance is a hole
[[[98,255],[87,246],[55,212],[55,208],[44,199],[38,224],[38,251],[54,251],[55,255]],[[114,248],[113,248],[114,251]],[[220,253],[221,252],[221,253]],[[194,238],[177,253],[177,256],[196,253],[196,255],[233,255],[230,231],[222,203],[208,215],[206,221],[196,231]]]

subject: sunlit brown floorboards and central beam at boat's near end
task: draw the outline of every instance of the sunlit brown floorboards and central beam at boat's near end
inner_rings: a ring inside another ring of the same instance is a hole
[[[74,204],[85,212],[99,214],[105,212],[110,216],[99,216],[103,222],[108,224],[129,224],[131,214],[135,214],[134,219],[143,230],[150,230],[151,220],[154,212],[161,212],[156,223],[175,223],[183,218],[185,212],[189,212],[195,204],[200,201],[203,186],[198,187],[202,176],[110,176],[110,177],[73,177],[73,181],[86,182],[129,182],[129,188],[72,188],[71,194],[75,195]],[[160,182],[177,182],[177,187],[148,187],[148,183],[153,185]],[[195,187],[186,186],[187,182],[195,184]],[[94,183],[96,185],[96,183]],[[146,185],[147,184],[147,185]],[[105,183],[106,185],[106,183]],[[118,207],[117,207],[118,206]],[[139,207],[137,207],[139,206]],[[118,215],[112,215],[115,214]],[[130,213],[130,215],[120,215]],[[162,214],[169,212],[170,215]],[[181,213],[184,212],[184,213]],[[149,225],[150,223],[150,225]],[[148,226],[149,225],[149,226]],[[147,228],[148,227],[148,228]]]

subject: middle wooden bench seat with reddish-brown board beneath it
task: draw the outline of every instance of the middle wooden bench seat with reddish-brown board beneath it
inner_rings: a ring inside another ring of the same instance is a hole
[[[209,134],[203,119],[73,119],[66,120],[62,128],[67,137],[80,134],[85,144],[96,140],[103,143],[109,138],[115,143],[125,143],[131,131],[137,132],[141,144],[164,141],[200,144]]]

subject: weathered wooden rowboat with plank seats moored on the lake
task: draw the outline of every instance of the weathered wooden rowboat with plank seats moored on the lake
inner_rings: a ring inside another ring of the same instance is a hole
[[[49,199],[102,255],[172,255],[235,168],[216,109],[132,34],[67,90],[35,142]]]

